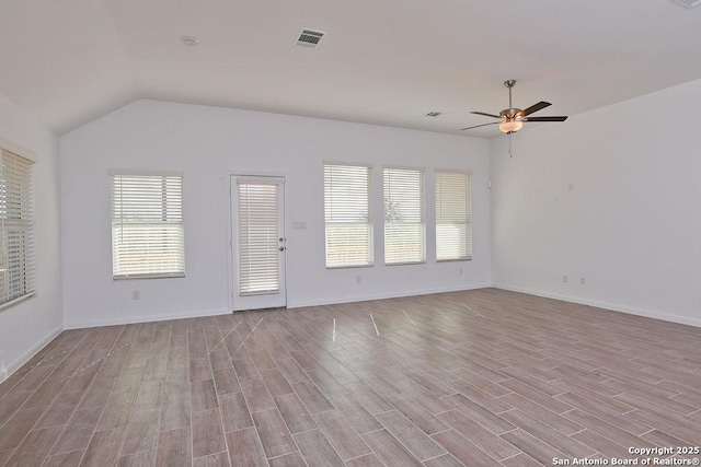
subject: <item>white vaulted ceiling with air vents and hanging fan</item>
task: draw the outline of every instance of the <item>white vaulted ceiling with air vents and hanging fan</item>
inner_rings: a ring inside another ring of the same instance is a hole
[[[700,46],[669,0],[1,0],[0,94],[59,135],[156,98],[489,138],[459,130],[506,79],[574,115],[701,78]]]

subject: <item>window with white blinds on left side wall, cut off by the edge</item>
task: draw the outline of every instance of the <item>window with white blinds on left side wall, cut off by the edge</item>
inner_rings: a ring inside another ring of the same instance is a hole
[[[32,161],[0,156],[0,305],[35,293]]]

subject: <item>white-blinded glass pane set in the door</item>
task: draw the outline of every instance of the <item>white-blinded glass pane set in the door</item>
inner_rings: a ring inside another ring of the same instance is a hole
[[[278,183],[238,182],[240,295],[279,291],[278,201]]]

